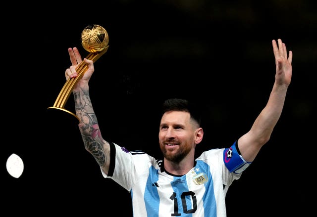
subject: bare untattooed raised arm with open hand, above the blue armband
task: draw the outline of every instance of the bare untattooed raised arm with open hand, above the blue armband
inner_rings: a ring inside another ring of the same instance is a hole
[[[243,158],[252,162],[261,147],[269,140],[271,133],[282,113],[287,88],[292,77],[293,53],[287,49],[282,40],[272,41],[273,53],[275,56],[275,82],[268,101],[255,120],[251,130],[238,139],[238,147]]]

